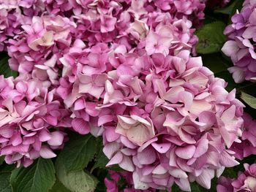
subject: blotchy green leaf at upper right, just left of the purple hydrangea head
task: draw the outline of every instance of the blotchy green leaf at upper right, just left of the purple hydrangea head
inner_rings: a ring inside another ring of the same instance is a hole
[[[197,43],[197,53],[217,53],[221,50],[222,45],[225,43],[226,37],[223,34],[225,23],[217,21],[208,23],[200,28],[196,35],[199,38]]]

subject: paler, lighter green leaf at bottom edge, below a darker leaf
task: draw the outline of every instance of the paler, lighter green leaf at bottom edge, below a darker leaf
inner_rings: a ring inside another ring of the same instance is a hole
[[[56,174],[61,183],[70,191],[91,192],[97,186],[97,179],[83,170],[67,172],[63,164],[64,159],[57,158]]]

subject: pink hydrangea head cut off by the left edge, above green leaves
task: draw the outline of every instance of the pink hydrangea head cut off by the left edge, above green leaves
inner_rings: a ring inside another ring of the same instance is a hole
[[[0,78],[0,155],[17,166],[55,157],[53,150],[67,140],[64,127],[71,126],[70,113],[56,99],[55,90],[48,91],[47,82],[26,77]]]

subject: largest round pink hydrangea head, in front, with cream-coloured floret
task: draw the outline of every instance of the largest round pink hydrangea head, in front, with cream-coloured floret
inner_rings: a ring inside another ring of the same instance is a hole
[[[101,108],[113,108],[102,117],[99,112],[98,126],[104,123],[107,166],[133,172],[141,190],[176,183],[190,191],[193,181],[210,188],[215,174],[238,164],[227,149],[240,142],[244,104],[187,50],[132,60],[140,69],[128,70],[123,61],[105,82]]]

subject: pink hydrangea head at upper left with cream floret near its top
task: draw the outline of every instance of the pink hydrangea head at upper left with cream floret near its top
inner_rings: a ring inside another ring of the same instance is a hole
[[[59,58],[72,41],[70,33],[75,23],[61,16],[43,16],[34,17],[31,25],[22,28],[20,39],[10,39],[11,68],[22,74],[31,73],[39,80],[59,83]]]

